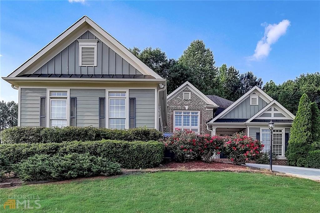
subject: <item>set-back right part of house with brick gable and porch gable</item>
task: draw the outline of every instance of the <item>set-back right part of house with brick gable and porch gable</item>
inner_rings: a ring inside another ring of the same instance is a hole
[[[243,132],[270,150],[268,122],[275,122],[273,151],[279,158],[290,138],[290,128],[295,116],[268,94],[255,86],[235,102],[215,95],[204,95],[186,82],[167,97],[168,126],[165,132],[175,128],[190,129],[199,134],[232,135]]]

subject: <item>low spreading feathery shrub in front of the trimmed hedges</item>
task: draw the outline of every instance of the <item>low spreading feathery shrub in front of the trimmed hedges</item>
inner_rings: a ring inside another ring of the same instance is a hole
[[[121,174],[120,164],[90,154],[34,155],[13,166],[21,180],[71,179]]]

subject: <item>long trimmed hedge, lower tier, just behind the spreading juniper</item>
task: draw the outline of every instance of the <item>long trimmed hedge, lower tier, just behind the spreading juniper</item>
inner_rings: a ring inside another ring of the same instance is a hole
[[[0,166],[12,170],[12,165],[36,154],[85,154],[104,157],[123,168],[149,168],[159,165],[164,157],[164,144],[156,141],[71,141],[61,143],[1,144]]]

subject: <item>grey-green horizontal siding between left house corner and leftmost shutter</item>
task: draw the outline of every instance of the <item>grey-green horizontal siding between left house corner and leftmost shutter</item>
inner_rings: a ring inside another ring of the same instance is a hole
[[[20,126],[40,126],[40,97],[46,97],[47,89],[20,89]]]

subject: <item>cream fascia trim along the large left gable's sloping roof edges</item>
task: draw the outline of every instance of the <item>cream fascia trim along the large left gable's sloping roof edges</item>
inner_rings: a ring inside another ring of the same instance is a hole
[[[81,19],[76,21],[73,25],[71,25],[68,29],[58,35],[55,39],[53,39],[50,43],[48,43],[44,48],[38,51],[35,55],[29,58],[26,62],[24,62],[20,67],[18,67],[15,71],[13,71],[7,77],[15,77],[19,75],[22,71],[28,68],[30,65],[36,62],[40,57],[50,51],[55,45],[57,45],[60,41],[66,38],[69,34],[75,31],[77,28],[82,26],[82,24],[86,23],[87,30],[93,30],[94,32],[98,32],[101,36],[97,36],[101,41],[105,42],[107,45],[111,46],[111,49],[114,48],[115,52],[118,53],[122,58],[126,59],[129,63],[132,64],[133,67],[141,71],[145,75],[152,75],[156,79],[163,79],[160,75],[156,74],[152,69],[150,69],[147,65],[145,65],[140,59],[138,59],[135,55],[132,54],[123,44],[117,41],[114,37],[108,34],[104,29],[102,29],[99,25],[97,25],[94,21],[92,21],[87,16],[83,16]],[[88,26],[89,25],[89,26]]]

